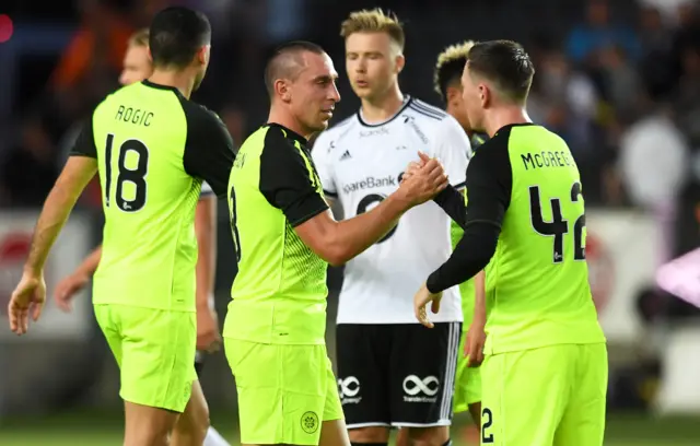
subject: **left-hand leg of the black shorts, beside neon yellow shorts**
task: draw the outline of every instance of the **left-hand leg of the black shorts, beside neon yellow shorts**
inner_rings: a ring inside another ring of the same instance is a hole
[[[338,392],[350,430],[390,426],[390,329],[387,325],[368,324],[336,327]]]

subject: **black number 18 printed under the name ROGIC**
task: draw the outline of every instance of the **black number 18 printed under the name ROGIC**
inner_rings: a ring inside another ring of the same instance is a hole
[[[105,206],[109,208],[112,201],[112,146],[114,144],[114,134],[107,134],[107,146],[105,149]],[[145,204],[147,184],[145,175],[149,172],[149,149],[139,140],[130,139],[124,141],[119,146],[117,161],[117,180],[115,200],[117,208],[124,212],[140,211]],[[136,168],[128,168],[126,165],[127,154],[133,152],[138,156]],[[124,197],[124,184],[131,183],[135,188],[132,199]]]

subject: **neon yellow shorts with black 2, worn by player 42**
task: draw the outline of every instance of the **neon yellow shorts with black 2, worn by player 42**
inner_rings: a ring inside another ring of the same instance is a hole
[[[603,445],[608,383],[604,343],[488,356],[481,379],[482,445]]]

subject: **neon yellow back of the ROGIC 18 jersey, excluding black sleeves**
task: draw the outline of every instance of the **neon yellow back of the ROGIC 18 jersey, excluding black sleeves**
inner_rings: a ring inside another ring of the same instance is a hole
[[[176,89],[148,81],[95,109],[105,227],[94,303],[195,310],[201,180],[186,172],[185,148],[200,114]]]

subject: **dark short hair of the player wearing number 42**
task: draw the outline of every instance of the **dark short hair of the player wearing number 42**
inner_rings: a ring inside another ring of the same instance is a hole
[[[510,99],[527,99],[535,66],[521,44],[512,40],[477,43],[469,50],[467,63],[470,73],[493,82]]]

